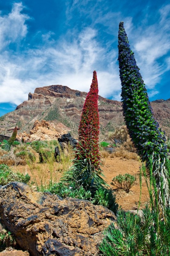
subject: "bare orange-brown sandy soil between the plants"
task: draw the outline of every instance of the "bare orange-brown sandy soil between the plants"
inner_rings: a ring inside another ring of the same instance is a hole
[[[102,166],[102,170],[106,177],[107,183],[114,189],[117,203],[124,209],[124,210],[135,210],[139,204],[140,198],[140,183],[139,183],[139,167],[142,165],[139,161],[136,160],[127,160],[127,159],[120,159],[120,157],[114,158],[104,158],[103,159],[104,165]],[[33,175],[38,183],[41,184],[41,180],[44,184],[44,180],[48,184],[48,180],[50,178],[50,172],[52,170],[52,177],[55,178],[56,181],[59,181],[62,175],[62,166],[58,163],[54,163],[51,167],[49,164],[38,164],[38,157],[37,157],[37,164],[35,164],[34,170],[30,171],[28,165],[18,165],[11,167],[14,171],[19,171],[21,173],[25,172],[31,176],[33,179]],[[110,183],[112,182],[113,177],[117,176],[118,174],[133,174],[136,176],[136,183],[130,189],[129,193],[126,193],[122,189],[116,189]],[[33,185],[34,186],[34,185]],[[145,184],[144,177],[142,177],[142,195],[141,195],[141,204],[140,209],[149,202],[149,193]]]

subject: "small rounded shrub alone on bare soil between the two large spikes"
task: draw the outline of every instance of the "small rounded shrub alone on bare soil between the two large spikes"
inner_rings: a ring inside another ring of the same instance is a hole
[[[116,186],[117,188],[122,188],[128,193],[129,189],[134,185],[136,178],[134,175],[125,173],[124,175],[117,175],[112,179],[112,181],[112,185]]]

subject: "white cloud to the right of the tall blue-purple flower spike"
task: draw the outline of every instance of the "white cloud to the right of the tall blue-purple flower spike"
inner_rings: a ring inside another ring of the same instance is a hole
[[[166,54],[170,51],[170,19],[167,18],[170,5],[162,7],[159,12],[161,15],[157,23],[145,27],[143,31],[140,29],[139,35],[136,31],[133,37],[136,62],[149,89],[160,83],[161,76],[170,68],[166,61]],[[162,57],[164,60],[159,61]]]

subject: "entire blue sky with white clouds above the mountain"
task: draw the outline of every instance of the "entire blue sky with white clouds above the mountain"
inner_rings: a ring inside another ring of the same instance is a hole
[[[120,100],[118,27],[124,21],[150,100],[170,98],[169,1],[0,2],[0,116],[36,87],[89,91]]]

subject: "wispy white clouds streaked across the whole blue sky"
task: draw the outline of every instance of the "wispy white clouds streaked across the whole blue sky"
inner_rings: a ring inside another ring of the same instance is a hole
[[[136,28],[132,17],[120,11],[112,12],[103,0],[100,3],[89,0],[91,8],[88,10],[85,8],[87,1],[84,0],[66,3],[67,22],[71,22],[74,11],[82,11],[80,15],[85,15],[91,22],[88,25],[82,22],[79,28],[70,27],[58,40],[51,39],[53,31],[42,34],[41,44],[37,43],[32,49],[28,45],[20,49],[29,29],[29,16],[23,14],[22,3],[15,3],[8,15],[0,15],[0,102],[18,105],[27,100],[28,92],[51,84],[67,85],[88,92],[93,70],[97,71],[99,94],[120,100],[117,33],[121,20],[124,20],[143,80],[150,89],[150,97],[159,93],[155,85],[170,69],[167,57],[170,49],[170,5],[158,11],[159,20],[156,23]],[[97,15],[94,10],[97,10]],[[92,13],[95,14],[92,16]],[[148,16],[143,19],[147,23]],[[103,37],[101,29],[104,29]],[[12,44],[17,46],[15,51],[10,50]],[[165,56],[165,60],[161,60]]]

